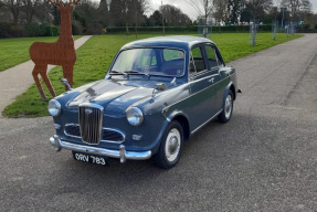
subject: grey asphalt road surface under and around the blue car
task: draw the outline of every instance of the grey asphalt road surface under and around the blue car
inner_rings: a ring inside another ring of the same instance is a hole
[[[77,162],[50,147],[50,117],[1,118],[0,211],[317,211],[317,34],[232,65],[232,120],[196,134],[171,170]]]

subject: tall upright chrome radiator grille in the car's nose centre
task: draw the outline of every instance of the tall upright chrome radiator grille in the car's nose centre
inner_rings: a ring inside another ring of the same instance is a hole
[[[80,127],[84,142],[98,145],[102,138],[103,110],[99,105],[84,104],[80,106]]]

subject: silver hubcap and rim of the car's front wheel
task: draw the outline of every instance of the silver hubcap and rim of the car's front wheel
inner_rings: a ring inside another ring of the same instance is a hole
[[[169,131],[166,140],[165,152],[167,160],[172,162],[177,159],[180,150],[180,132],[177,128]]]

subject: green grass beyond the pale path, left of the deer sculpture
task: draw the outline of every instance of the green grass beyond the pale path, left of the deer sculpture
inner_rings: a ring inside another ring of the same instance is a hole
[[[74,36],[74,39],[78,38]],[[29,61],[29,49],[35,41],[55,42],[57,36],[0,39],[0,72]]]

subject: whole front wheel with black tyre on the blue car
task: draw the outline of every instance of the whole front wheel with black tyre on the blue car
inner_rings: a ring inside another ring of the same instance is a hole
[[[183,144],[183,130],[178,121],[172,121],[167,127],[159,150],[155,155],[155,162],[158,167],[170,169],[175,167],[180,158]]]

